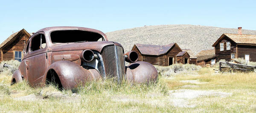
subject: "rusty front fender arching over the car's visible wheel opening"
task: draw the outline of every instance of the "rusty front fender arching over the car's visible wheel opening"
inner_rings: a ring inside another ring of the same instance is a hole
[[[85,69],[75,62],[70,61],[54,62],[47,69],[47,72],[50,70],[54,70],[57,73],[64,89],[76,88],[79,83],[101,79],[101,75],[96,69]],[[43,79],[44,83],[47,72]]]

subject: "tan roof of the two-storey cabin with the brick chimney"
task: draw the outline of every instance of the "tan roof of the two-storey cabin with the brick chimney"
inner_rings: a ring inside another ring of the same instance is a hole
[[[214,47],[221,41],[224,37],[228,37],[237,44],[256,44],[256,35],[250,34],[222,34],[221,37],[212,45]]]

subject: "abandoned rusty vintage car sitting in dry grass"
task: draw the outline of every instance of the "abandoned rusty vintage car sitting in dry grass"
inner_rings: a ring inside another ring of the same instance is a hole
[[[135,51],[124,54],[122,45],[108,41],[95,29],[43,28],[29,38],[12,83],[27,79],[32,86],[56,82],[70,89],[79,83],[108,78],[118,83],[125,79],[136,83],[155,81],[157,70],[147,62],[136,62],[137,56]],[[126,67],[125,61],[134,63]]]

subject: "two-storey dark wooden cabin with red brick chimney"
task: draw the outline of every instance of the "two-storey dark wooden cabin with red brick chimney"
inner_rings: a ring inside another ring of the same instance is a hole
[[[256,35],[242,34],[241,27],[238,28],[238,32],[239,34],[222,34],[212,45],[217,61],[243,58],[256,62]]]

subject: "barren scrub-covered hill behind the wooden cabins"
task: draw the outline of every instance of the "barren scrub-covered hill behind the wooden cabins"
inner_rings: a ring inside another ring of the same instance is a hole
[[[166,45],[176,42],[180,48],[191,49],[197,54],[201,50],[212,49],[212,44],[223,33],[237,34],[237,28],[202,25],[152,25],[123,29],[106,34],[109,40],[122,44],[125,52],[131,51],[135,43]],[[243,29],[242,33],[256,34],[256,31]]]

